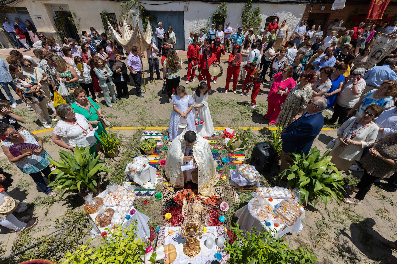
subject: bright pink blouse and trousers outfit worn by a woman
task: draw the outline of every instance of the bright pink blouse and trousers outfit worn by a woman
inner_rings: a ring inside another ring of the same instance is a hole
[[[278,74],[274,75],[274,82],[272,87],[270,88],[269,94],[268,94],[268,112],[265,114],[265,118],[269,118],[269,124],[274,124],[277,121],[278,115],[281,112],[281,106],[280,104],[285,102],[285,99],[288,96],[289,91],[297,85],[297,82],[290,77],[287,80],[284,80],[281,82],[283,76],[281,75],[282,72],[279,72]],[[286,91],[286,95],[278,95],[278,87],[282,87],[282,91]]]

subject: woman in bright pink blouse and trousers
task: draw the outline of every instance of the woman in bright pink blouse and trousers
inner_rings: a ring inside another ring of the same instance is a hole
[[[274,75],[274,82],[268,94],[268,112],[262,118],[263,120],[269,119],[269,125],[276,123],[281,112],[280,105],[284,103],[289,91],[297,84],[292,75],[291,65],[284,66],[281,72]]]

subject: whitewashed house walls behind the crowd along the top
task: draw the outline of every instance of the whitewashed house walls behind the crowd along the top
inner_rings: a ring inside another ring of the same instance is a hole
[[[169,1],[141,1],[149,11],[169,10],[169,11],[184,11],[184,32],[185,32],[185,49],[189,46],[187,38],[189,38],[189,31],[197,32],[198,29],[204,27],[207,20],[211,25],[211,16],[219,4],[208,4],[198,1],[186,2],[169,2]],[[233,32],[237,31],[237,27],[241,26],[241,10],[245,3],[230,3],[227,8],[226,21],[230,21]],[[89,32],[90,27],[95,27],[96,30],[102,32],[102,19],[100,11],[105,10],[109,13],[116,13],[119,17],[121,12],[120,3],[109,0],[23,0],[16,4],[16,6],[24,6],[28,9],[29,14],[35,23],[37,30],[43,33],[57,32],[54,25],[53,12],[51,5],[69,6],[71,11],[75,13],[80,21],[75,21],[78,26],[77,30],[85,30]],[[266,18],[276,15],[287,20],[289,25],[289,35],[293,33],[295,27],[302,18],[306,5],[304,4],[253,4],[253,8],[260,7],[262,16],[262,27],[264,27]],[[159,9],[161,7],[161,9]],[[67,10],[65,10],[67,11]],[[137,10],[133,10],[137,12]],[[44,22],[35,21],[35,15],[42,15]],[[128,21],[135,24],[135,21]],[[142,22],[139,21],[139,26],[142,28]],[[80,32],[79,32],[80,33]],[[258,34],[258,32],[255,32]]]

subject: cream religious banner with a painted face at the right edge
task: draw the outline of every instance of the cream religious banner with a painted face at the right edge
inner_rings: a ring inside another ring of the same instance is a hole
[[[397,48],[397,37],[380,32],[376,33],[378,35],[376,36],[374,46],[372,46],[370,54],[368,54],[367,63],[365,65],[365,68],[367,69],[372,68],[372,66],[376,65],[376,63],[384,59],[387,54]]]

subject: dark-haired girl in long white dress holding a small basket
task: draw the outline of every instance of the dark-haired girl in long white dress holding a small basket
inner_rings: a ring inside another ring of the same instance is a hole
[[[197,126],[197,134],[202,137],[211,137],[214,134],[214,124],[208,108],[208,89],[205,81],[198,83],[193,93],[193,107],[195,108],[195,120],[204,120],[204,124]]]

